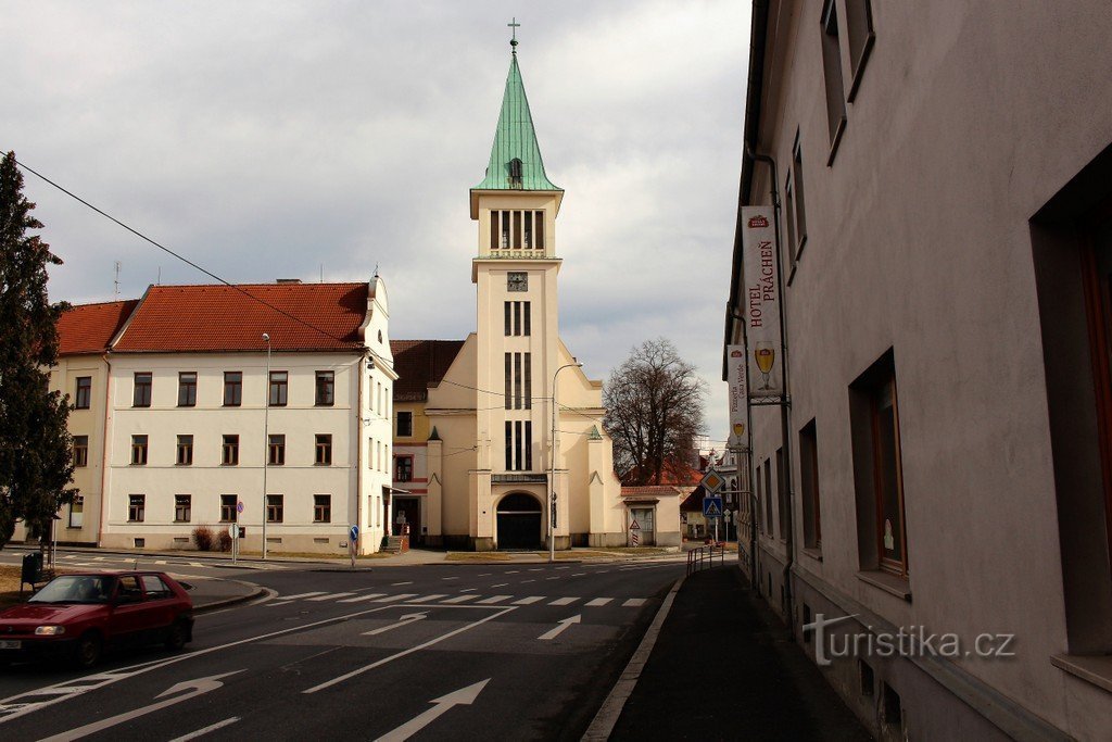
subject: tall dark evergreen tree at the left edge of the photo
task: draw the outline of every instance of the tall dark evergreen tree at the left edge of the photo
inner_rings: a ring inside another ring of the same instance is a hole
[[[42,224],[23,197],[16,154],[0,162],[0,547],[20,518],[44,535],[61,505],[72,502],[69,398],[50,392],[58,360],[58,318],[64,304],[47,297],[47,268],[61,265],[29,229]]]

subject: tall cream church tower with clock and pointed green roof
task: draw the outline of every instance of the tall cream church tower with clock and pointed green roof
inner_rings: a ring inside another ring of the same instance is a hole
[[[488,442],[488,458],[483,462],[480,456],[479,461],[476,494],[481,503],[489,492],[492,505],[509,491],[539,499],[537,504],[549,499],[550,385],[566,362],[562,357],[566,349],[559,342],[556,288],[560,267],[556,217],[564,190],[545,174],[516,40],[512,43],[514,53],[486,177],[470,190],[471,219],[478,221],[478,251],[471,261],[471,281],[477,288],[476,386],[502,393],[480,393],[486,399],[478,400],[476,415],[480,448],[481,442]],[[484,482],[484,463],[489,467],[489,485]],[[558,478],[563,467],[556,468]],[[528,499],[518,499],[523,508],[534,506]],[[550,509],[543,509],[546,532]],[[503,518],[504,524],[508,522]],[[557,533],[558,524],[557,515]],[[499,541],[505,542],[506,534]]]

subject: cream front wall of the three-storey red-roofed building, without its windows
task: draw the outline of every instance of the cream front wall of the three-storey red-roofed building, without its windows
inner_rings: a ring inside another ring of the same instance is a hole
[[[289,373],[288,404],[270,407],[267,413],[266,354],[113,356],[102,545],[133,547],[139,538],[147,548],[190,547],[191,532],[198,525],[227,527],[227,523],[220,523],[220,495],[235,494],[244,503],[239,524],[247,528],[241,547],[261,551],[266,417],[269,435],[286,436],[285,464],[268,465],[266,471],[267,493],[284,495],[282,522],[266,525],[268,550],[346,553],[348,526],[360,522],[356,498],[360,463],[356,412],[363,364],[361,356],[350,354],[274,353],[270,370]],[[198,375],[197,405],[178,407],[178,373],[187,370],[196,370]],[[225,370],[242,372],[239,407],[224,406]],[[335,373],[332,406],[314,404],[317,370]],[[132,406],[136,372],[152,373],[149,408]],[[384,429],[388,427],[387,422]],[[332,436],[330,465],[315,464],[316,434]],[[133,435],[148,436],[146,465],[131,464]],[[176,463],[178,435],[193,436],[191,465]],[[224,435],[239,436],[238,465],[221,463]],[[389,442],[388,433],[379,435]],[[385,481],[380,474],[365,473],[367,483],[376,478]],[[142,523],[128,520],[131,494],[146,495]],[[192,496],[188,523],[175,522],[176,494]],[[329,523],[314,523],[315,494],[331,495]],[[364,546],[371,547],[377,548],[377,544]]]

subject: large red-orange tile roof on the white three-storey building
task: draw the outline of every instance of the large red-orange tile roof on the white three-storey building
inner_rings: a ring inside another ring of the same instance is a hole
[[[360,349],[369,290],[368,284],[151,286],[112,350],[265,350],[264,333],[274,350]]]

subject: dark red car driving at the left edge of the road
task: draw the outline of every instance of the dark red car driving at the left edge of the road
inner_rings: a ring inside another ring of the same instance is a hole
[[[66,655],[90,667],[109,645],[180,650],[193,637],[192,612],[185,588],[161,572],[64,574],[0,613],[0,661]]]

